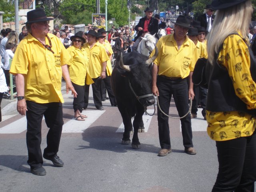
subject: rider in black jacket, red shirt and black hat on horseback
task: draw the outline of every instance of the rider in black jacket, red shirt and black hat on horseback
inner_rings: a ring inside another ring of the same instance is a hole
[[[151,35],[156,34],[156,38],[159,39],[157,32],[158,32],[158,20],[153,18],[153,11],[151,8],[146,8],[144,12],[146,16],[141,18],[139,23],[135,26],[135,30],[138,31],[138,36],[134,39],[135,43],[133,45],[134,50],[137,49],[138,44],[141,40],[141,36],[143,36],[146,32],[149,32]]]

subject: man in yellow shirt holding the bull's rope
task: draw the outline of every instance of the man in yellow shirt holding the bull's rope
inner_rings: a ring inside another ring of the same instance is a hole
[[[194,98],[192,72],[196,63],[197,51],[192,40],[186,34],[190,20],[180,15],[174,22],[174,34],[160,38],[156,44],[158,56],[154,60],[152,72],[152,92],[158,95],[159,105],[165,114],[169,114],[173,95],[178,114],[184,116],[188,108],[188,99]],[[153,51],[150,55],[154,55]],[[187,79],[190,81],[188,88]],[[192,128],[189,115],[180,119],[184,152],[196,154],[192,143]],[[158,109],[158,132],[161,150],[158,156],[166,156],[172,151],[168,117]]]

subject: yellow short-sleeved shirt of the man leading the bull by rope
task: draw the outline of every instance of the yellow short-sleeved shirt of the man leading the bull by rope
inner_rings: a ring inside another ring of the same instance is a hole
[[[154,60],[154,64],[159,66],[158,75],[186,78],[191,71],[194,71],[199,55],[194,42],[188,37],[185,38],[180,49],[178,49],[173,34],[160,38],[156,47],[158,56]],[[155,50],[152,51],[150,57],[154,53]]]

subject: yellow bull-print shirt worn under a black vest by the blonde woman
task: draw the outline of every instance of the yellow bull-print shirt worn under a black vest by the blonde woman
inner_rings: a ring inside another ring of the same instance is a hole
[[[255,109],[256,99],[252,96],[256,94],[256,84],[250,76],[250,54],[240,36],[232,34],[224,40],[218,63],[228,69],[236,96],[245,102],[248,109]],[[216,141],[250,136],[256,127],[255,116],[239,111],[206,111],[206,119],[208,135]]]

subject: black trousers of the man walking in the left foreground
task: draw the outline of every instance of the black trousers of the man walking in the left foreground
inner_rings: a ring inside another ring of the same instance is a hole
[[[52,102],[39,104],[26,101],[27,109],[27,133],[26,141],[28,148],[28,164],[34,169],[43,164],[41,151],[41,129],[44,116],[46,125],[49,128],[47,134],[47,146],[44,149],[44,156],[50,157],[57,154],[59,150],[60,137],[63,125],[62,103]]]

